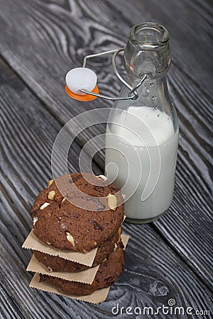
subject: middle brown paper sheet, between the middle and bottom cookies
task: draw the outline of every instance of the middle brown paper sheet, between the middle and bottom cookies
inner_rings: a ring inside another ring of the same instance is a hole
[[[35,258],[33,254],[26,270],[28,272],[39,272],[40,274],[47,274],[53,277],[59,277],[69,281],[80,281],[85,284],[92,284],[92,281],[94,280],[94,277],[97,274],[98,269],[99,265],[84,270],[82,272],[50,272],[41,262],[38,262],[38,260]]]

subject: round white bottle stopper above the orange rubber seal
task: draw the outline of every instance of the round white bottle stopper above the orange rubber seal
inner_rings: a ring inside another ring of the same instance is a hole
[[[75,94],[84,94],[80,89],[92,91],[97,84],[97,75],[87,67],[75,67],[67,73],[65,81],[70,91]]]

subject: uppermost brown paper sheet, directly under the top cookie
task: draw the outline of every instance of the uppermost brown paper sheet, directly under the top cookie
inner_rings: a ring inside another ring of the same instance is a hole
[[[79,262],[80,264],[85,264],[91,267],[94,261],[94,257],[97,254],[97,248],[91,250],[90,252],[70,252],[68,250],[58,250],[52,246],[45,244],[38,240],[33,234],[33,230],[29,233],[25,242],[22,245],[23,248],[28,250],[38,250],[39,252],[45,252],[45,254],[51,254],[52,256],[59,256],[61,258],[70,260],[72,262]]]

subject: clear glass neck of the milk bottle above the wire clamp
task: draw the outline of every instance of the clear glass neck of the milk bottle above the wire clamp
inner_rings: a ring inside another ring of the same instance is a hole
[[[168,31],[156,23],[141,23],[129,31],[124,50],[127,82],[134,86],[143,75],[147,80],[162,82],[170,67]]]

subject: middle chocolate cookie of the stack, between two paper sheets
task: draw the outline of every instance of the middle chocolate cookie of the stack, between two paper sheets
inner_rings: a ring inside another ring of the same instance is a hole
[[[109,257],[109,254],[114,251],[114,248],[116,247],[116,245],[118,245],[120,240],[121,231],[119,231],[118,233],[116,233],[116,235],[100,245],[98,247],[92,267],[97,266],[97,264],[100,264],[101,262],[103,262],[104,259]],[[50,254],[38,252],[37,250],[33,250],[33,254],[38,262],[42,262],[42,264],[44,264],[50,272],[82,272],[83,270],[89,269],[89,267],[84,264],[79,264],[78,262],[70,262],[70,260],[51,256]]]

